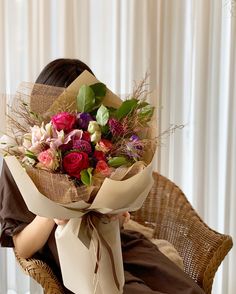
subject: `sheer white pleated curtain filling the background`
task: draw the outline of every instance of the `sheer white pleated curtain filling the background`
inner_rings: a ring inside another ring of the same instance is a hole
[[[235,0],[0,0],[0,44],[3,93],[58,57],[83,60],[122,94],[149,72],[159,131],[185,124],[163,141],[158,171],[208,225],[235,239]],[[29,291],[10,253],[0,257],[0,293]],[[235,264],[233,249],[213,293],[235,293]]]

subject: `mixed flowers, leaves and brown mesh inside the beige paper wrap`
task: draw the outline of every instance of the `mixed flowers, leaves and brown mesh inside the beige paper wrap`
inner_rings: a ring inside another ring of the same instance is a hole
[[[134,163],[138,170],[149,163],[154,107],[141,97],[142,86],[116,108],[103,104],[106,92],[103,83],[83,84],[76,104],[64,94],[46,114],[28,110],[32,120],[23,133],[18,130],[15,146],[1,140],[3,151],[16,155],[39,191],[56,202],[91,202],[106,177],[127,178]]]

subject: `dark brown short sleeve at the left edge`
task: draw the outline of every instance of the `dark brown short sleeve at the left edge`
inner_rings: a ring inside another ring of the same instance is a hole
[[[31,213],[5,163],[0,177],[0,244],[14,247],[12,236],[27,226],[35,215]]]

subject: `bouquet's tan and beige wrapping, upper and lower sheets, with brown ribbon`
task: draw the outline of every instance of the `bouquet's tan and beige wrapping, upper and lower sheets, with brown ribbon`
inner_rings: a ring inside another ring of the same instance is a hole
[[[38,103],[32,99],[32,110],[37,112],[40,106],[44,117],[65,111],[65,107],[69,107],[66,110],[75,110],[75,97],[80,86],[97,82],[93,75],[85,71],[55,101]],[[63,104],[65,95],[67,105]],[[103,103],[117,108],[122,101],[108,90]],[[46,108],[43,105],[47,105]],[[64,285],[74,293],[123,293],[119,222],[110,222],[102,215],[135,211],[142,206],[153,185],[154,151],[155,147],[150,146],[145,164],[137,162],[130,168],[121,167],[111,178],[105,178],[90,203],[86,201],[94,187],[82,187],[75,191],[76,188],[68,180],[65,188],[62,175],[56,174],[51,175],[52,180],[48,181],[47,174],[39,180],[41,176],[37,175],[37,170],[28,169],[27,174],[14,156],[5,158],[30,211],[48,218],[70,219],[65,226],[58,226],[55,237]],[[40,184],[49,182],[54,186],[42,187]]]

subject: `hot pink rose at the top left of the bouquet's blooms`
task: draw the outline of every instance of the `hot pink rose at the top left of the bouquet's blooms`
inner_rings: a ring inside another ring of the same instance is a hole
[[[68,112],[61,112],[54,115],[51,121],[57,131],[63,130],[64,132],[68,133],[75,125],[76,116]]]

